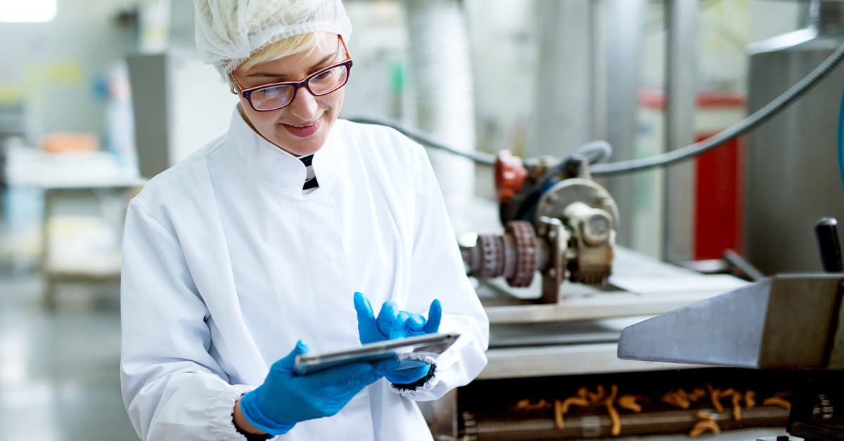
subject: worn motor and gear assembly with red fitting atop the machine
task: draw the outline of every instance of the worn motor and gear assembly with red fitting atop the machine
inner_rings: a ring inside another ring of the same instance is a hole
[[[591,153],[591,155],[590,155]],[[587,144],[565,159],[527,164],[502,151],[495,187],[505,233],[479,234],[461,245],[467,272],[479,279],[505,277],[527,287],[542,276],[541,303],[560,298],[564,280],[604,285],[612,273],[619,212],[613,197],[590,179],[589,159],[609,156],[605,143]]]

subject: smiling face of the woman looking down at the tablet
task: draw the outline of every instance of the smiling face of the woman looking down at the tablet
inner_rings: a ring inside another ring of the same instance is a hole
[[[324,41],[311,51],[260,62],[248,68],[238,67],[232,74],[243,89],[248,89],[268,83],[300,81],[324,67],[344,61],[345,53],[337,35],[323,35]],[[313,96],[306,88],[300,88],[287,107],[263,112],[253,109],[242,94],[238,96],[242,115],[256,132],[285,152],[304,156],[317,152],[325,144],[343,106],[344,89]]]

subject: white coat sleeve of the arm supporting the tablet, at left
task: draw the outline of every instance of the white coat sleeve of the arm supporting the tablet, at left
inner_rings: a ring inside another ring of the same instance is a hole
[[[144,440],[245,440],[232,411],[247,390],[229,385],[208,352],[208,309],[176,236],[129,204],[121,281],[123,401]]]

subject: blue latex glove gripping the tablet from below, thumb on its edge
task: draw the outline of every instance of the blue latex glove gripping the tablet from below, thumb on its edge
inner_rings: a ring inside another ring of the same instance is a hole
[[[308,352],[299,341],[286,357],[273,363],[263,385],[241,397],[246,420],[266,433],[287,433],[300,421],[334,415],[354,395],[398,367],[395,360],[353,363],[313,374],[293,372],[297,355]]]

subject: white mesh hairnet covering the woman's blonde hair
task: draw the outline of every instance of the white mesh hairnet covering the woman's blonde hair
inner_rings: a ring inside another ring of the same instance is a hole
[[[340,0],[194,0],[197,49],[227,76],[264,46],[310,32],[349,40],[352,24]]]

